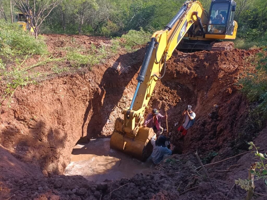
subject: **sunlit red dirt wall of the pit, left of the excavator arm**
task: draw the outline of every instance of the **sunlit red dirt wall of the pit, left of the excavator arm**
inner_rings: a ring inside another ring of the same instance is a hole
[[[6,101],[1,106],[0,144],[23,162],[38,164],[45,175],[62,173],[78,139],[112,134],[134,93],[140,51],[117,56],[86,74],[18,89],[11,108]]]

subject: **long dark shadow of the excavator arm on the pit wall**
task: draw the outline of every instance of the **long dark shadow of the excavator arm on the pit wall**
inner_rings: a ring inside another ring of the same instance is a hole
[[[89,100],[88,107],[85,110],[84,123],[81,127],[82,137],[85,136],[84,127],[90,112],[93,114],[87,126],[87,139],[90,140],[102,135],[103,127],[114,107],[122,98],[125,87],[133,79],[142,64],[142,58],[138,61],[134,60],[140,54],[140,51],[142,49],[134,53],[120,55],[113,66],[105,71],[99,88],[93,95],[93,99]]]

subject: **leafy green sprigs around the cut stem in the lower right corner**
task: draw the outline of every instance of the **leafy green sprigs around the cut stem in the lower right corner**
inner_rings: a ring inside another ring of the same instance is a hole
[[[255,151],[253,152],[255,156],[258,157],[258,162],[252,164],[250,173],[254,175],[254,180],[262,179],[265,185],[267,186],[267,164],[266,164],[267,154],[259,153],[258,149],[260,147],[256,147],[253,142],[248,142],[248,145],[250,145],[249,150],[253,148],[255,149]],[[239,178],[238,180],[235,180],[235,184],[240,185],[242,189],[245,189],[247,191],[250,189],[250,186],[249,186],[250,182],[251,181],[249,179],[243,180]]]

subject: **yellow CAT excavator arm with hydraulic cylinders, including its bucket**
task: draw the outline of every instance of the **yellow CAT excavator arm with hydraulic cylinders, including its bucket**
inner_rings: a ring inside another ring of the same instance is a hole
[[[154,135],[152,128],[143,127],[144,112],[154,91],[156,82],[166,71],[166,61],[195,23],[205,35],[202,20],[207,15],[200,2],[186,1],[164,30],[155,32],[148,42],[144,61],[138,75],[138,84],[131,105],[122,110],[124,119],[117,118],[112,133],[110,147],[130,154],[140,160],[146,160],[151,154],[150,139]],[[161,73],[163,69],[163,73]]]

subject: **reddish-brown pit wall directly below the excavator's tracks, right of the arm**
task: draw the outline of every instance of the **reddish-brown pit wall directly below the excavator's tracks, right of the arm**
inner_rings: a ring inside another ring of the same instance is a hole
[[[253,130],[244,129],[249,102],[239,92],[238,79],[251,66],[248,58],[257,52],[256,49],[176,51],[167,62],[166,74],[156,85],[150,109],[158,107],[162,113],[167,111],[172,142],[180,153],[197,149],[203,154],[209,150],[221,152],[226,146],[238,149],[245,147],[245,139],[255,134]],[[182,112],[189,104],[196,113],[196,121],[186,137],[178,141],[177,128],[182,124]],[[165,122],[163,126],[166,127]],[[247,134],[247,138],[240,138],[241,133],[242,137]]]

